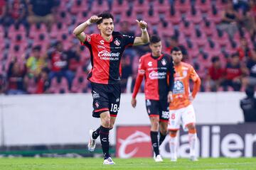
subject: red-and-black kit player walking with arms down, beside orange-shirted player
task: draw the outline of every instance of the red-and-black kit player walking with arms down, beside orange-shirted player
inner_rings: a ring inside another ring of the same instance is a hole
[[[155,161],[162,162],[159,145],[167,134],[169,121],[169,102],[174,86],[174,64],[170,55],[161,53],[161,39],[157,35],[150,38],[151,53],[139,60],[139,70],[132,94],[132,106],[137,104],[136,96],[145,77],[146,111],[151,122],[151,142],[156,154]],[[160,137],[158,134],[160,129]]]

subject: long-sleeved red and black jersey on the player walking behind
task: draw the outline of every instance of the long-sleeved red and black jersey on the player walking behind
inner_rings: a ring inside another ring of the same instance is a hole
[[[174,86],[174,73],[174,63],[170,55],[162,54],[159,57],[153,57],[151,53],[143,55],[139,60],[138,76],[132,96],[136,97],[145,77],[146,99],[166,100]]]

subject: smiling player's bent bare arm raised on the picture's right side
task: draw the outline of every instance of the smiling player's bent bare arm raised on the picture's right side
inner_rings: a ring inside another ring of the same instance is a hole
[[[134,45],[144,45],[146,43],[149,43],[149,33],[146,30],[147,23],[145,21],[138,20],[136,20],[136,22],[138,23],[139,28],[141,28],[142,30],[142,36],[136,37],[134,39]]]

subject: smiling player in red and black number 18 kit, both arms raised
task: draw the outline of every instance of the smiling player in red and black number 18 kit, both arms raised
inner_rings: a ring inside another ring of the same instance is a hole
[[[136,20],[137,21],[137,20]],[[87,35],[83,33],[91,23],[97,23],[100,34]],[[95,140],[100,135],[100,142],[104,154],[103,164],[114,164],[109,154],[109,131],[113,128],[120,102],[120,60],[124,48],[129,45],[144,45],[149,42],[146,22],[137,21],[142,29],[141,37],[132,37],[114,32],[114,18],[108,13],[100,13],[80,24],[73,33],[90,50],[92,69],[89,81],[92,84],[92,98],[94,111],[92,116],[100,118],[101,126],[97,130],[90,130],[88,149],[94,151]]]

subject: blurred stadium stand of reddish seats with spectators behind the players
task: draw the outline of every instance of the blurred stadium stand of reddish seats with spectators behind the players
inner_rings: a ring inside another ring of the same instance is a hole
[[[256,85],[256,3],[253,0],[0,0],[0,94],[87,93],[90,52],[73,28],[109,10],[115,30],[140,35],[135,19],[158,33],[163,52],[181,47],[202,79],[201,91],[244,91]],[[90,26],[86,33],[98,33]],[[122,57],[122,92],[129,93],[139,57]]]

